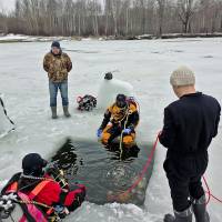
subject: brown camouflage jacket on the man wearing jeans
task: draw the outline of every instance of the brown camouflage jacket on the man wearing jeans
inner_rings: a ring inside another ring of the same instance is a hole
[[[43,68],[52,82],[62,82],[68,79],[72,62],[67,53],[54,56],[49,52],[44,56]]]

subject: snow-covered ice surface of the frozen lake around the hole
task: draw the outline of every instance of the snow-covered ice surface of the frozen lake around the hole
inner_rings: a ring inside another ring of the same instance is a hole
[[[97,94],[103,73],[112,70],[114,77],[134,87],[141,108],[138,138],[154,141],[162,128],[163,108],[175,97],[169,84],[171,71],[180,64],[196,73],[198,90],[222,101],[222,39],[182,39],[152,41],[63,41],[69,50],[73,70],[69,78],[71,119],[62,117],[59,101],[58,120],[50,119],[48,79],[42,59],[50,49],[48,42],[0,44],[0,92],[9,117],[17,130],[0,140],[0,186],[21,169],[21,159],[28,152],[40,152],[49,158],[65,137],[95,138],[102,113],[81,113],[75,110],[75,98]],[[210,148],[206,179],[213,194],[222,198],[222,130]],[[158,147],[153,176],[147,190],[143,209],[128,204],[95,205],[85,202],[70,215],[72,222],[161,222],[172,211],[170,190],[162,163],[165,150]],[[209,204],[212,222],[222,221],[222,205]]]

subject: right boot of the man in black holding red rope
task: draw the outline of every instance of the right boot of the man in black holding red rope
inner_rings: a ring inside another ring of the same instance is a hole
[[[199,200],[193,199],[193,213],[195,215],[195,222],[210,222],[209,213],[205,210],[205,195],[202,195]]]

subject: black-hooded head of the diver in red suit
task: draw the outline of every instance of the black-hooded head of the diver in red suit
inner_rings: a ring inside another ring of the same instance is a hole
[[[22,169],[24,175],[41,176],[47,161],[38,153],[29,153],[22,159]]]

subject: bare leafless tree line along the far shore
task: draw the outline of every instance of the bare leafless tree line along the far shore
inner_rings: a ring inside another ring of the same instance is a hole
[[[0,32],[123,36],[222,31],[222,0],[17,0]]]

